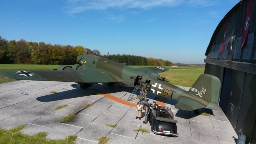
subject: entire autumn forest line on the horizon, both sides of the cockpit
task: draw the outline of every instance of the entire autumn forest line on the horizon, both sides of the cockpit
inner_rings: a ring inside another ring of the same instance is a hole
[[[92,52],[86,48],[88,52]],[[98,50],[96,50],[98,51]],[[85,52],[83,46],[52,45],[44,42],[8,41],[0,36],[0,63],[1,64],[51,64],[51,65],[73,65],[76,57]],[[100,51],[98,51],[100,53]],[[135,55],[101,55],[109,60],[114,60],[127,65],[138,66],[172,66],[168,60],[145,58]],[[65,59],[65,61],[64,61]],[[64,62],[64,63],[63,63]]]

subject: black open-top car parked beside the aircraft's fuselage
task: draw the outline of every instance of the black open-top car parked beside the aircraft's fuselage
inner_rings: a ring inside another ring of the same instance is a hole
[[[177,136],[177,120],[174,120],[173,113],[169,107],[158,106],[155,104],[151,107],[148,116],[151,131],[155,134],[164,134]]]

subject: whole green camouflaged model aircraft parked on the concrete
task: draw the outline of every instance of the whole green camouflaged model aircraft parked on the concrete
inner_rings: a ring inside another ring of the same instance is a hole
[[[189,91],[165,81],[158,73],[169,70],[165,67],[131,68],[122,63],[84,53],[77,57],[77,64],[61,65],[54,70],[2,71],[0,75],[16,80],[76,82],[81,88],[94,83],[120,84],[147,89],[159,96],[178,100],[175,108],[197,110],[217,109],[220,80],[212,75],[202,74]]]

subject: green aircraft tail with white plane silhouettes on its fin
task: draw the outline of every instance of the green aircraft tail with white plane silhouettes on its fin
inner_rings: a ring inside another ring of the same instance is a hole
[[[219,92],[219,78],[216,76],[203,74],[199,76],[189,91],[185,92],[184,96],[181,96],[175,108],[188,111],[204,107],[217,109]]]

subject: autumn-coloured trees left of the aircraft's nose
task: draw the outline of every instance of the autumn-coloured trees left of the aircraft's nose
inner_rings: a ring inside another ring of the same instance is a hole
[[[83,46],[52,45],[44,42],[26,42],[3,39],[0,36],[0,63],[2,64],[75,64],[84,53]]]

